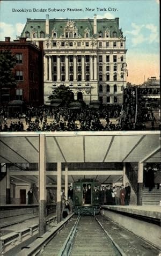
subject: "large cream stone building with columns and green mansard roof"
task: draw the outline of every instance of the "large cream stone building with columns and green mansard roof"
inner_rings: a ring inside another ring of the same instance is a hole
[[[89,104],[122,103],[126,86],[126,39],[115,19],[27,19],[21,36],[43,41],[44,103],[61,84]]]

